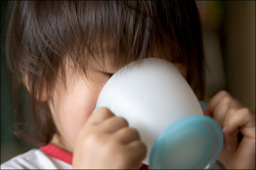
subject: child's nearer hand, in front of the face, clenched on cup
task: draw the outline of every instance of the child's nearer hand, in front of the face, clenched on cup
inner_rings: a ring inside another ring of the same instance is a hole
[[[140,169],[145,155],[138,131],[124,118],[99,108],[76,137],[73,169]]]

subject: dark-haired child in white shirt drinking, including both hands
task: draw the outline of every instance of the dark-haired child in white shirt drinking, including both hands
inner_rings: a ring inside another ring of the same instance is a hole
[[[24,126],[16,134],[41,149],[1,169],[145,168],[146,147],[137,130],[107,108],[92,114],[111,75],[132,61],[166,59],[198,99],[204,96],[201,25],[193,1],[16,1],[8,31],[14,98],[23,85],[35,120],[35,133]],[[204,113],[223,128],[218,161],[227,169],[255,169],[255,111],[221,91]]]

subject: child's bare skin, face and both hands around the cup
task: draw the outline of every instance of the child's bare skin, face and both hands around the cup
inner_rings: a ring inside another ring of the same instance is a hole
[[[100,108],[92,115],[100,91],[110,74],[117,71],[106,61],[105,70],[98,62],[91,64],[90,79],[73,71],[72,64],[68,65],[67,91],[61,78],[56,79],[55,90],[48,99],[58,129],[51,143],[73,153],[74,169],[140,169],[146,147],[137,130],[107,108]],[[186,78],[186,68],[174,64]],[[226,96],[228,102],[223,99]],[[225,143],[221,163],[232,169],[253,166],[255,169],[255,112],[242,108],[244,106],[230,94],[222,92],[209,101],[208,111],[204,113],[212,116],[221,127],[227,127],[223,130]],[[244,138],[238,144],[239,130]],[[229,145],[232,150],[227,149]],[[236,167],[237,164],[241,166]]]

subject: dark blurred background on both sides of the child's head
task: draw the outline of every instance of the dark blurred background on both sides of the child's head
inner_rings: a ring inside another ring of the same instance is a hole
[[[6,67],[3,31],[7,1],[1,0],[1,163],[33,146],[10,131],[15,121],[12,75]],[[205,101],[227,90],[255,110],[255,1],[196,1],[201,16],[207,60]]]

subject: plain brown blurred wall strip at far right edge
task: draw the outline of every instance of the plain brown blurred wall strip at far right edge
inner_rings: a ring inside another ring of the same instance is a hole
[[[255,1],[225,1],[227,89],[255,110]]]

